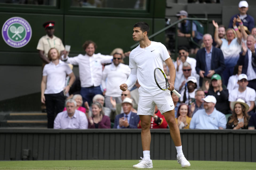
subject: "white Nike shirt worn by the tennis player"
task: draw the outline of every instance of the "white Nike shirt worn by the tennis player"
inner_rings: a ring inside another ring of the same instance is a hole
[[[155,83],[154,70],[163,70],[163,61],[169,58],[169,53],[162,43],[151,41],[146,48],[138,45],[129,56],[129,67],[137,68],[137,78],[141,91],[153,92],[160,90]]]

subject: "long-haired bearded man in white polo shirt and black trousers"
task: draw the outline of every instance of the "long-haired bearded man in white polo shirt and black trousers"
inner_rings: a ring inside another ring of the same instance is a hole
[[[43,68],[41,102],[46,105],[47,128],[53,128],[55,114],[63,111],[65,95],[75,81],[75,75],[69,65],[61,61],[59,57],[58,50],[51,48],[48,52],[51,62]],[[66,75],[69,75],[70,80],[65,87]]]

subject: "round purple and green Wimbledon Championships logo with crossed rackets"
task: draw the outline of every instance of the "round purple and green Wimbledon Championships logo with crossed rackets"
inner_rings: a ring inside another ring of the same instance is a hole
[[[12,17],[3,24],[3,40],[11,47],[20,48],[27,45],[31,36],[31,26],[24,18]]]

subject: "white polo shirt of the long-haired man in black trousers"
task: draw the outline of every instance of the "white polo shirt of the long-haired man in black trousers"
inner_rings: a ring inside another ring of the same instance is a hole
[[[46,89],[44,94],[57,94],[63,91],[66,82],[66,75],[72,73],[69,65],[59,60],[59,64],[53,62],[43,67],[43,76],[47,76]]]

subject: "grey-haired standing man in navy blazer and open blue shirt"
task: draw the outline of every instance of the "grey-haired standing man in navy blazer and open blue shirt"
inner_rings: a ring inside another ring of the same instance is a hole
[[[205,90],[205,82],[210,82],[213,74],[222,76],[225,62],[221,49],[213,46],[213,38],[210,34],[203,35],[203,44],[205,48],[201,48],[196,54],[197,65],[195,69],[200,75],[199,86]]]

